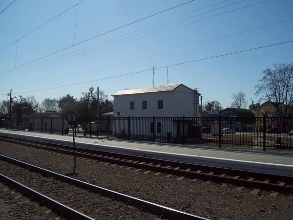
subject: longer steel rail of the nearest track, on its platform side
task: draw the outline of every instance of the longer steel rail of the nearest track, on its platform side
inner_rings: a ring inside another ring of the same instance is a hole
[[[45,170],[41,167],[37,167],[25,162],[22,162],[20,160],[4,156],[0,154],[0,160],[15,164],[17,166],[20,166],[22,168],[28,169],[33,172],[40,173],[44,176],[50,176],[54,177],[55,179],[58,179],[60,181],[69,183],[71,185],[77,186],[79,188],[82,188],[84,190],[88,190],[89,192],[93,192],[96,194],[100,194],[101,196],[105,196],[107,198],[116,199],[119,200],[126,205],[134,206],[139,208],[141,211],[149,212],[153,215],[159,216],[160,218],[169,219],[169,220],[178,220],[178,219],[184,219],[184,220],[208,220],[206,218],[192,215],[186,212],[182,212],[176,209],[168,208],[163,205],[159,205],[156,203],[152,203],[140,198],[134,198],[131,196],[127,196],[122,193],[118,193],[112,190],[108,190],[90,183],[86,183],[84,181],[74,179],[68,176],[64,176],[49,170]]]

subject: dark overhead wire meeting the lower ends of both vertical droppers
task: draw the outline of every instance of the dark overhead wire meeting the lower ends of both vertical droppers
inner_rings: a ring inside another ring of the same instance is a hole
[[[58,51],[55,51],[55,52],[53,52],[53,53],[50,53],[50,54],[45,55],[45,56],[43,56],[43,57],[40,57],[40,58],[38,58],[38,59],[36,59],[36,60],[30,61],[30,62],[28,62],[28,63],[26,63],[26,64],[21,65],[21,66],[25,66],[25,65],[30,64],[30,63],[33,63],[33,62],[35,62],[35,61],[41,60],[42,58],[45,58],[45,57],[51,56],[51,55],[53,55],[53,54],[56,54],[56,53],[58,53],[58,52],[61,52],[61,51],[65,50],[65,49],[68,49],[68,48],[70,48],[70,47],[76,46],[76,45],[78,45],[78,44],[82,44],[82,43],[87,42],[87,41],[89,41],[89,40],[92,40],[92,39],[94,39],[94,38],[97,38],[97,37],[100,37],[100,36],[102,36],[102,35],[108,34],[108,33],[112,32],[112,31],[115,31],[115,30],[121,29],[121,28],[123,28],[123,27],[126,27],[126,26],[128,26],[128,25],[130,25],[130,24],[133,24],[133,23],[136,23],[136,22],[143,21],[143,20],[145,20],[145,19],[147,19],[147,18],[153,17],[153,16],[155,16],[155,15],[161,14],[161,13],[163,13],[163,12],[169,11],[169,10],[174,9],[174,8],[177,8],[177,7],[180,7],[180,6],[182,6],[182,5],[188,4],[188,3],[193,2],[193,1],[195,1],[195,0],[190,0],[190,1],[187,1],[187,2],[182,3],[182,4],[178,4],[178,5],[174,6],[174,7],[171,7],[171,8],[165,9],[165,10],[163,10],[163,11],[157,12],[157,13],[155,13],[155,14],[149,15],[149,16],[147,16],[147,17],[145,17],[145,18],[142,18],[142,19],[136,20],[136,21],[134,21],[134,22],[127,23],[127,24],[125,24],[125,25],[122,25],[122,26],[120,26],[120,27],[117,27],[117,28],[114,28],[114,29],[112,29],[112,30],[106,31],[106,32],[104,32],[104,33],[102,33],[102,34],[96,35],[96,36],[94,36],[94,37],[92,37],[92,38],[89,38],[89,39],[84,40],[84,41],[82,41],[82,42],[79,42],[79,43],[77,43],[77,44],[67,46],[67,47],[65,47],[65,48],[63,48],[63,49],[60,49],[60,50],[58,50]],[[74,5],[74,6],[75,6],[75,5]],[[74,6],[73,6],[73,7],[74,7]],[[3,73],[9,72],[9,71],[11,71],[11,70],[13,70],[13,69],[19,68],[19,67],[21,67],[21,66],[17,66],[17,67],[15,67],[15,68],[12,68],[12,69],[6,70],[6,71],[4,71],[4,72],[1,72],[0,75],[3,74]]]

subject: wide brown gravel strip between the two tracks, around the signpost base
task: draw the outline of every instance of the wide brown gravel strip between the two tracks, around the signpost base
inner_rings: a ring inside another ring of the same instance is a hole
[[[73,158],[64,154],[24,148],[18,144],[0,142],[0,154],[42,168],[67,174],[72,171]],[[213,182],[177,180],[165,174],[154,176],[143,170],[127,169],[89,159],[77,159],[78,176],[74,178],[105,187],[129,196],[145,199],[194,215],[214,220],[291,220],[293,219],[292,196],[270,197],[261,191],[252,195],[251,189],[238,192],[236,186]]]

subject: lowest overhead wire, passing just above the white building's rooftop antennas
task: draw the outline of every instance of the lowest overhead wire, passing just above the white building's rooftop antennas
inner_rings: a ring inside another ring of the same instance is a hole
[[[116,76],[110,76],[110,77],[106,77],[106,78],[90,80],[90,81],[80,82],[80,83],[74,83],[74,84],[69,84],[69,85],[63,85],[63,86],[58,86],[58,87],[51,87],[51,88],[43,88],[43,89],[37,89],[37,90],[31,90],[31,91],[16,92],[14,94],[21,94],[21,93],[28,93],[28,92],[44,91],[44,90],[55,89],[55,88],[64,88],[64,87],[76,86],[76,85],[85,84],[85,83],[92,83],[92,82],[102,81],[102,80],[106,80],[106,79],[113,79],[113,78],[118,78],[118,77],[122,77],[122,76],[128,76],[128,75],[133,75],[133,74],[147,72],[147,71],[153,71],[155,69],[162,69],[162,68],[167,68],[167,67],[170,67],[170,66],[185,65],[185,64],[189,64],[189,63],[198,62],[198,61],[209,60],[209,59],[213,59],[213,58],[217,58],[217,57],[224,57],[224,56],[228,56],[228,55],[232,55],[232,54],[238,54],[238,53],[243,53],[243,52],[247,52],[247,51],[251,51],[251,50],[257,50],[257,49],[276,46],[276,45],[280,45],[280,44],[288,44],[288,43],[292,43],[292,42],[293,42],[293,40],[286,41],[286,42],[281,42],[281,43],[277,43],[277,44],[269,44],[269,45],[265,45],[265,46],[254,47],[254,48],[250,48],[250,49],[245,49],[245,50],[240,50],[240,51],[236,51],[236,52],[216,55],[216,56],[212,56],[212,57],[206,57],[206,58],[202,58],[202,59],[198,59],[198,60],[192,60],[192,61],[187,61],[187,62],[183,62],[183,63],[172,64],[172,65],[168,65],[168,66],[150,68],[150,69],[145,69],[145,70],[141,70],[141,71],[137,71],[137,72],[126,73],[126,74],[121,74],[121,75],[116,75]],[[1,94],[1,95],[6,95],[6,94]]]

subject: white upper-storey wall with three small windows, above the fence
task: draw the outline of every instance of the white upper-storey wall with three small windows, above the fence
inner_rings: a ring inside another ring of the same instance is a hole
[[[158,100],[163,100],[163,109],[158,109]],[[131,101],[134,110],[130,110]],[[147,102],[146,110],[142,109],[143,101]],[[199,106],[197,109],[199,112]],[[114,117],[118,111],[122,117],[194,117],[194,92],[180,85],[173,91],[114,96]]]

